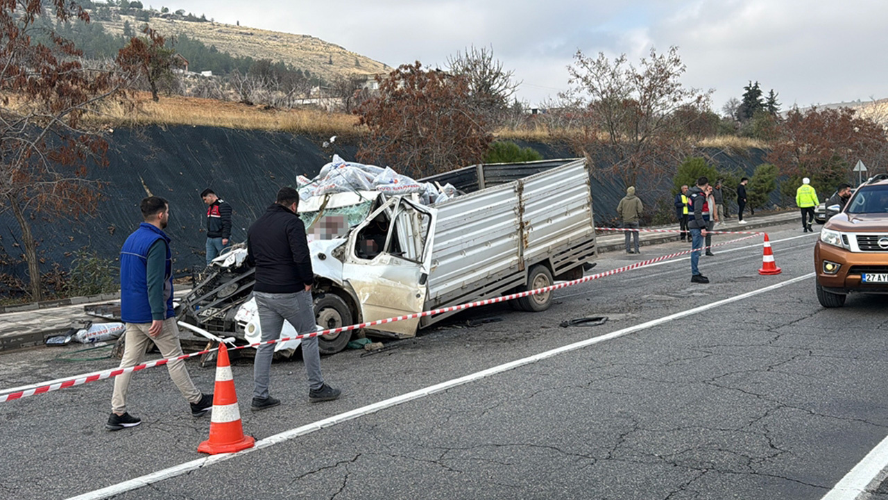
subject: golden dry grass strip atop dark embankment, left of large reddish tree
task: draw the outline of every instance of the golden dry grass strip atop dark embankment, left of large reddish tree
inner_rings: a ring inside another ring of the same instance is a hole
[[[237,102],[161,97],[151,101],[150,93],[137,93],[135,109],[124,101],[106,102],[93,123],[109,126],[203,125],[243,130],[269,130],[316,135],[353,136],[363,133],[357,117],[317,109],[263,109]]]

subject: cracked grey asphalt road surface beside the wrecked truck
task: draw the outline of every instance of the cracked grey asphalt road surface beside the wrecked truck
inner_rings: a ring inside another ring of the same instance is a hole
[[[757,240],[717,249],[690,282],[686,260],[560,290],[550,310],[492,306],[391,350],[321,359],[337,401],[307,403],[301,361],[274,364],[280,407],[249,411],[250,362],[234,364],[244,430],[263,440],[516,359],[680,318],[331,424],[115,498],[819,499],[888,434],[888,298],[824,310],[813,242],[772,228],[778,276],[759,276]],[[644,258],[686,246],[645,247]],[[605,254],[595,271],[638,256]],[[770,290],[768,286],[788,282]],[[559,327],[607,316],[599,327]],[[467,319],[499,321],[467,327]],[[65,348],[67,349],[67,348]],[[0,387],[112,367],[60,351],[0,356]],[[67,351],[66,351],[67,352]],[[189,362],[199,387],[213,370]],[[133,377],[139,427],[108,432],[112,383],[0,403],[0,497],[67,498],[188,464],[194,419],[163,368]],[[875,498],[883,497],[879,494]],[[884,496],[888,498],[888,496]]]

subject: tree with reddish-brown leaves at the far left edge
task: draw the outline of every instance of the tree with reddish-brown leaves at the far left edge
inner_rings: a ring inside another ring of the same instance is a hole
[[[0,212],[12,211],[21,230],[33,300],[43,299],[40,260],[30,220],[37,213],[71,216],[91,212],[99,185],[90,165],[107,163],[107,142],[83,117],[119,91],[110,70],[85,69],[82,52],[38,21],[90,17],[69,0],[0,4]],[[36,30],[51,43],[37,43]],[[49,32],[46,33],[45,30]]]

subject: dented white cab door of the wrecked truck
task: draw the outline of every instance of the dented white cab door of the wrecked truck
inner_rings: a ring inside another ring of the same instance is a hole
[[[428,285],[436,210],[392,198],[349,234],[343,280],[361,302],[364,321],[421,312]],[[416,335],[419,319],[373,327]]]

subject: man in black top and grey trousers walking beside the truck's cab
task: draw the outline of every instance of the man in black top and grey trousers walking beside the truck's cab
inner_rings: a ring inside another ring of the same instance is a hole
[[[247,233],[247,261],[256,267],[253,296],[258,306],[263,342],[280,338],[284,319],[299,334],[315,331],[314,272],[305,224],[297,215],[298,204],[297,190],[281,188],[274,205],[253,222]],[[281,404],[280,399],[268,394],[273,355],[274,344],[262,345],[256,351],[252,411]],[[340,391],[324,383],[321,375],[317,337],[302,340],[302,359],[308,374],[309,402],[337,399]]]

